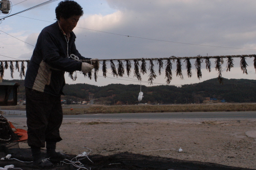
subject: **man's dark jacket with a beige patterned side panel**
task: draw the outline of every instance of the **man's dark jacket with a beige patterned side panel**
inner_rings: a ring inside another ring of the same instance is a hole
[[[54,96],[63,94],[65,72],[81,70],[81,62],[68,58],[68,55],[88,59],[77,51],[75,34],[71,32],[70,35],[68,42],[58,22],[41,31],[26,72],[25,87]]]

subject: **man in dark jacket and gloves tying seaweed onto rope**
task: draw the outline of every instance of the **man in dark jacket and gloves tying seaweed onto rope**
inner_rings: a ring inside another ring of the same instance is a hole
[[[61,139],[62,123],[60,95],[65,85],[65,72],[88,73],[93,66],[69,58],[71,54],[84,58],[75,46],[72,30],[83,15],[83,10],[74,1],[62,1],[55,9],[57,22],[44,28],[38,36],[25,77],[28,145],[33,163],[42,168],[53,164],[43,157],[40,147],[47,148],[47,157],[65,159],[67,155],[55,151]]]

